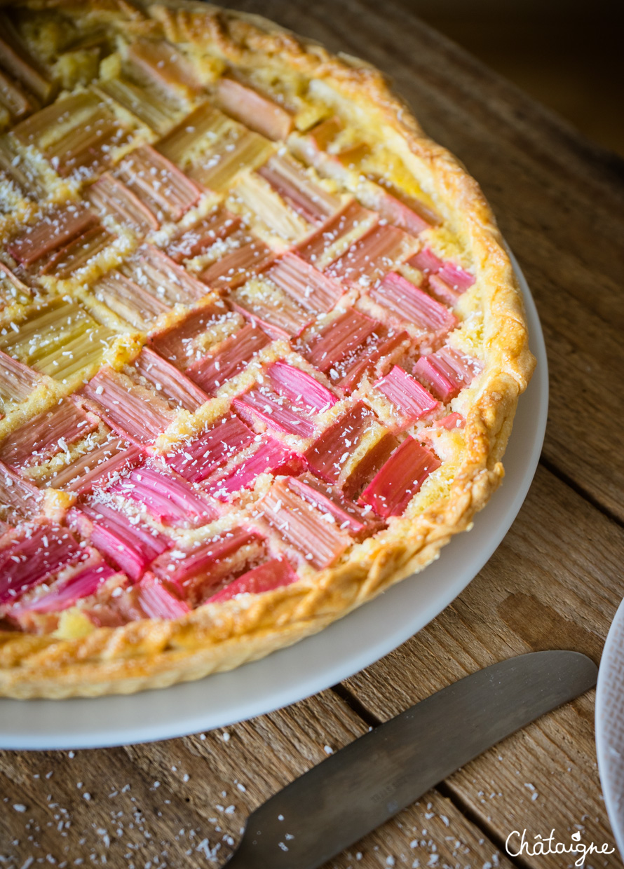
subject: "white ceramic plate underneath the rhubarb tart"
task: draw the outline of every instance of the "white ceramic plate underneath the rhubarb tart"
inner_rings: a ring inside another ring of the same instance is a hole
[[[507,534],[540,457],[548,415],[548,363],[527,282],[531,348],[538,367],[521,397],[505,454],[505,481],[469,534],[459,534],[422,574],[269,657],[230,673],[93,700],[0,700],[0,747],[87,748],[149,742],[253,718],[335,685],[388,654],[460,594]]]

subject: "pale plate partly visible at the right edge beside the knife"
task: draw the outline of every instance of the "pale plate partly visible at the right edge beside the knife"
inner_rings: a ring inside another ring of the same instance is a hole
[[[609,820],[624,855],[624,601],[609,628],[598,671],[596,753]]]

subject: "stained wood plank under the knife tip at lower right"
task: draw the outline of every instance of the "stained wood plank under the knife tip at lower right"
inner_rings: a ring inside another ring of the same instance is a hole
[[[466,591],[346,687],[383,720],[510,655],[569,648],[599,660],[621,600],[622,558],[621,528],[540,468],[505,541]],[[525,827],[530,837],[554,828],[556,840],[569,844],[578,824],[584,842],[613,843],[595,763],[594,692],[481,755],[447,784],[499,839]],[[525,863],[567,865],[559,856],[525,856]],[[615,855],[592,858],[592,866],[620,865]]]

